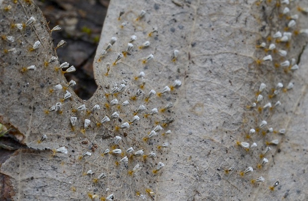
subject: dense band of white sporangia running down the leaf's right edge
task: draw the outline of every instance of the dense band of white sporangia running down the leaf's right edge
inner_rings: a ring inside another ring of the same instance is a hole
[[[294,39],[299,34],[308,34],[308,29],[297,29],[297,19],[299,18],[299,14],[308,13],[308,7],[302,8],[298,7],[298,14],[291,13],[291,9],[288,7],[292,2],[289,2],[289,0],[279,0],[277,2],[270,2],[260,0],[257,2],[257,5],[265,4],[265,6],[269,6],[270,4],[273,4],[277,9],[279,9],[280,13],[280,19],[282,20],[281,24],[286,24],[286,27],[284,30],[276,30],[276,32],[272,33],[270,36],[268,36],[266,39],[263,39],[264,42],[259,43],[256,47],[259,49],[259,51],[262,51],[265,53],[265,56],[262,59],[256,60],[257,66],[262,66],[264,68],[268,68],[269,66],[272,66],[275,71],[284,71],[286,74],[292,74],[292,72],[299,69],[299,66],[296,63],[295,58],[288,58],[288,48],[291,46],[292,39]],[[272,55],[274,55],[272,57]],[[277,58],[277,59],[274,59]],[[283,60],[283,62],[278,62],[278,60]],[[269,112],[272,110],[275,110],[275,108],[281,106],[281,102],[279,101],[279,98],[283,93],[287,93],[287,91],[293,89],[294,84],[292,82],[290,83],[283,83],[279,82],[276,84],[276,86],[273,86],[270,91],[268,91],[268,97],[266,97],[265,93],[267,93],[268,86],[265,83],[261,83],[259,86],[259,90],[256,92],[256,98],[252,100],[252,103],[247,106],[247,109],[250,109],[257,114],[261,114],[264,112]],[[274,101],[275,100],[275,101]],[[257,115],[261,116],[261,115]],[[236,144],[245,150],[253,150],[255,147],[260,146],[257,145],[256,142],[254,142],[254,138],[256,135],[261,134],[266,139],[271,139],[269,141],[266,141],[266,148],[265,150],[260,153],[258,156],[260,162],[256,165],[251,164],[254,166],[249,166],[248,168],[242,170],[239,172],[239,175],[241,177],[244,177],[245,175],[248,175],[251,173],[254,169],[261,169],[264,167],[269,160],[267,159],[267,155],[269,152],[271,152],[272,148],[271,146],[277,146],[279,144],[279,140],[275,139],[275,134],[285,134],[286,129],[274,129],[270,127],[269,122],[267,122],[264,119],[261,119],[262,117],[259,117],[259,123],[257,127],[250,128],[250,130],[245,134],[244,138],[247,140],[245,142],[236,141]],[[274,139],[273,139],[274,138]],[[230,168],[226,169],[225,172],[228,174],[229,172],[233,171],[234,167],[231,166]],[[259,173],[258,173],[259,174]],[[260,177],[251,179],[251,183],[255,184],[257,182],[264,182],[266,178],[260,175]],[[275,187],[278,186],[280,183],[279,180],[277,180],[273,185],[270,186],[270,190],[274,191]]]

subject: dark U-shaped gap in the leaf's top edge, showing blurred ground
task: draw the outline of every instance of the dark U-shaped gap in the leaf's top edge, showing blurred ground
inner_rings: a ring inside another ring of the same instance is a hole
[[[74,91],[82,100],[90,99],[97,89],[93,75],[93,60],[109,1],[93,2],[35,1],[44,13],[50,28],[56,25],[62,27],[61,31],[52,33],[54,46],[56,47],[61,40],[67,42],[64,47],[57,49],[57,54],[60,63],[68,62],[70,66],[76,67],[76,72],[67,73],[65,77],[68,82],[72,79],[76,81]]]

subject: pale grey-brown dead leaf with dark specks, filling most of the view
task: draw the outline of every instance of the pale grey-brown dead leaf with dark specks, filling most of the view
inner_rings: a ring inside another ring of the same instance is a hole
[[[0,120],[31,148],[1,166],[13,200],[308,199],[307,1],[111,0],[88,101],[32,0],[0,2]]]

